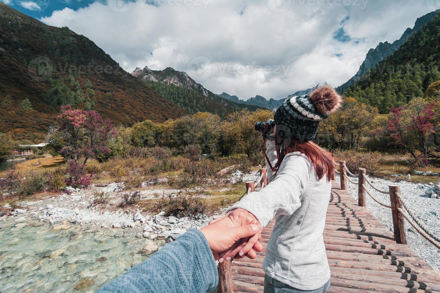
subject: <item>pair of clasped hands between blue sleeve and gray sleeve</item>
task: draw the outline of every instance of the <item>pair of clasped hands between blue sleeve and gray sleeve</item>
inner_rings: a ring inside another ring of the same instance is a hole
[[[257,218],[247,210],[235,209],[224,217],[209,222],[200,229],[214,258],[223,262],[232,258],[257,257],[256,252],[263,250],[260,240],[261,225]]]

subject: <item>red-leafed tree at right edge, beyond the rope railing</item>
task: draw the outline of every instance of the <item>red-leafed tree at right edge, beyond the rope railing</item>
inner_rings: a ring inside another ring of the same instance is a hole
[[[440,157],[435,143],[437,118],[436,102],[416,98],[406,106],[391,109],[388,129],[397,145],[403,146],[414,159],[422,157],[427,164],[429,159]]]

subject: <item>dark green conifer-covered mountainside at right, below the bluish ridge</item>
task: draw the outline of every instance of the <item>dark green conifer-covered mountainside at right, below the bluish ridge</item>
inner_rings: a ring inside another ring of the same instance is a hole
[[[439,44],[440,15],[437,15],[396,52],[348,87],[344,95],[377,106],[382,113],[423,96],[431,83],[440,80]]]

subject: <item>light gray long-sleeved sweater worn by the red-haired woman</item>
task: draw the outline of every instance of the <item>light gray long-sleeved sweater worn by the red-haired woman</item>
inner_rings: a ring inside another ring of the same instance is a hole
[[[268,141],[267,152],[275,165],[273,142]],[[253,213],[262,227],[276,217],[263,262],[266,275],[297,289],[318,289],[330,279],[323,230],[331,183],[326,176],[318,180],[300,152],[288,154],[273,175],[268,168],[268,186],[249,193],[229,210]]]

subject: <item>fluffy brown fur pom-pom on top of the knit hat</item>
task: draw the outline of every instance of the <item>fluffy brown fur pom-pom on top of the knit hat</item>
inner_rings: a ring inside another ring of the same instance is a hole
[[[319,87],[310,94],[310,100],[315,104],[316,110],[324,115],[329,115],[341,107],[342,98],[333,87]]]

